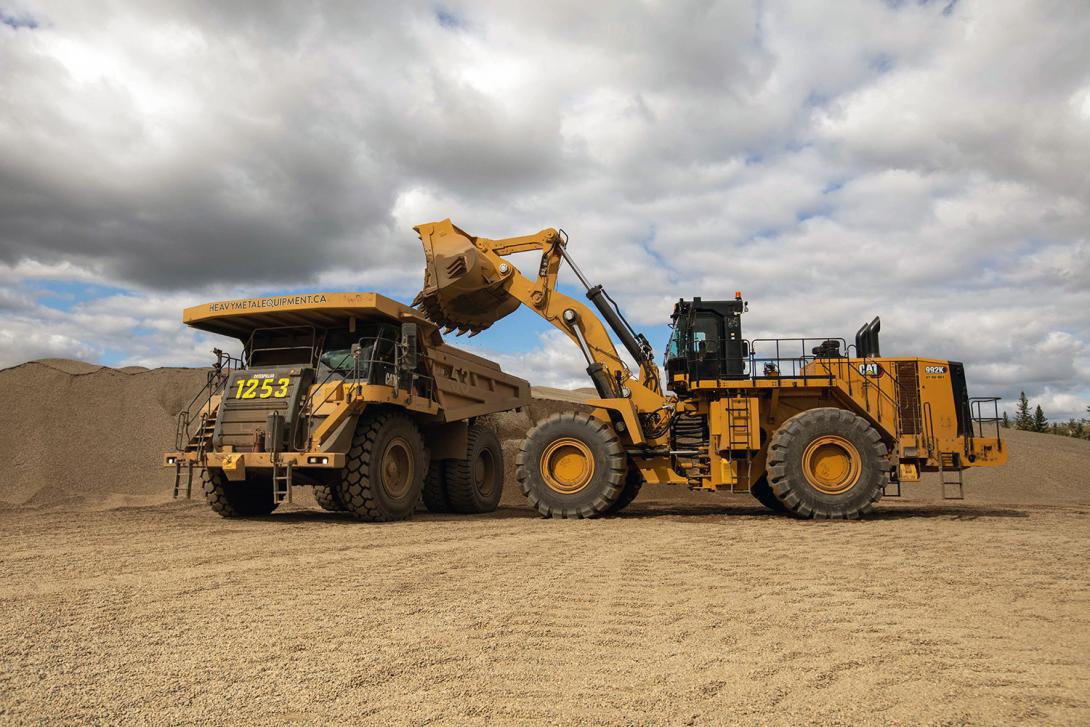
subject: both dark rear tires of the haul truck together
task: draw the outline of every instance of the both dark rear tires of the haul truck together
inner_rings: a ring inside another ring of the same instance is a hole
[[[423,495],[431,512],[494,512],[504,495],[504,449],[496,432],[471,424],[465,457],[433,460]]]

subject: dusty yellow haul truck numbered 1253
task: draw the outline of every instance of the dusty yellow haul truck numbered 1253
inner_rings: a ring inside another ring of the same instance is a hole
[[[376,293],[314,293],[187,308],[239,339],[178,417],[174,497],[199,477],[225,517],[268,514],[294,486],[327,510],[402,520],[417,504],[488,512],[504,455],[481,417],[530,404],[530,385],[450,347],[417,311]]]

